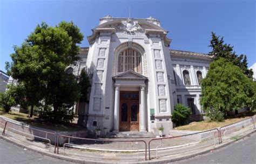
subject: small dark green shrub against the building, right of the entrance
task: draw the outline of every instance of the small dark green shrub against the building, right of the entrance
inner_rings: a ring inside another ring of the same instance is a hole
[[[187,123],[187,119],[191,114],[190,108],[183,104],[176,104],[172,113],[172,121],[176,123],[177,126],[184,125]]]

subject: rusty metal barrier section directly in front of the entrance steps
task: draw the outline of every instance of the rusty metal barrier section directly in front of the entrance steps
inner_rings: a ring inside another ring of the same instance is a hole
[[[107,141],[107,142],[144,142],[145,144],[145,160],[147,160],[147,143],[144,140],[111,140],[111,139],[91,139],[91,138],[80,138],[80,137],[72,137],[72,136],[65,136],[59,135],[57,137],[57,154],[59,154],[59,138],[66,137],[66,138],[74,138],[74,139],[82,139],[82,140],[92,140],[92,141]]]

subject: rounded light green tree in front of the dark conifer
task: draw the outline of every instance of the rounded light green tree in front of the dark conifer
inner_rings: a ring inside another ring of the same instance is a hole
[[[211,62],[205,79],[201,80],[201,88],[200,104],[213,120],[221,120],[232,110],[253,105],[252,80],[224,58]]]

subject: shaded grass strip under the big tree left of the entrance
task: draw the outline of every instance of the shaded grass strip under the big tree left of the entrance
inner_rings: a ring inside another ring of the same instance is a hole
[[[55,130],[55,131],[80,131],[80,130],[85,130],[85,127],[79,126],[75,123],[60,123],[60,124],[53,124],[49,122],[42,122],[41,120],[38,120],[37,117],[28,117],[28,114],[25,113],[19,113],[19,112],[9,112],[6,113],[2,108],[0,108],[0,115],[17,120],[18,122],[22,122],[25,124],[29,124],[32,126],[37,126],[37,127],[43,127],[45,129],[50,129],[50,130]]]

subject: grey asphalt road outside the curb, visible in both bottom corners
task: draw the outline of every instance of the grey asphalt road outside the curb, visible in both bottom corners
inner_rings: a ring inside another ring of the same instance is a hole
[[[49,156],[21,148],[10,142],[0,139],[0,163],[63,163],[73,162],[63,161]],[[255,164],[256,163],[256,133],[246,137],[226,147],[214,150],[211,153],[199,155],[191,159],[171,162],[172,164]]]

